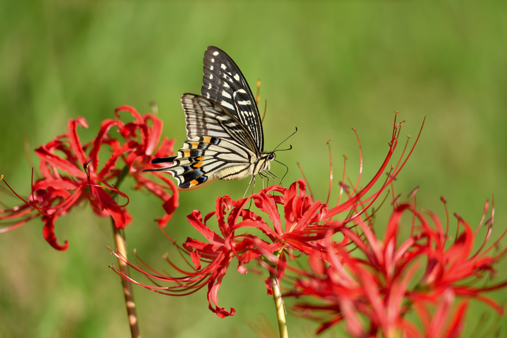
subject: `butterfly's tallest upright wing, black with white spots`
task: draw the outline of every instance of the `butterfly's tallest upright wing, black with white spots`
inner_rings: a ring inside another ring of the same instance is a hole
[[[201,95],[220,105],[244,126],[256,145],[264,151],[261,115],[250,87],[238,66],[224,51],[209,46],[204,53]]]

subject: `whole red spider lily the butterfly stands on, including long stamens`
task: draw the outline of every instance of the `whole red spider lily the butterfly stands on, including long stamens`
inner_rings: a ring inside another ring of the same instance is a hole
[[[183,244],[183,248],[180,248],[182,252],[186,252],[189,261],[192,262],[190,265],[192,270],[187,271],[179,268],[171,260],[167,259],[168,263],[178,273],[182,274],[181,277],[172,277],[167,276],[165,273],[158,273],[138,258],[141,264],[144,265],[144,268],[142,268],[128,262],[118,252],[115,253],[120,259],[123,259],[132,268],[148,276],[152,281],[168,282],[173,285],[143,285],[123,275],[118,269],[114,267],[113,269],[124,278],[138,285],[168,295],[186,295],[207,285],[209,309],[222,318],[233,315],[235,313],[233,308],[231,311],[226,311],[218,306],[217,297],[222,278],[226,274],[232,260],[234,258],[237,259],[237,270],[240,273],[246,273],[244,265],[252,260],[257,260],[261,265],[270,270],[276,266],[278,278],[282,278],[285,272],[287,255],[293,257],[295,252],[329,260],[329,253],[325,244],[326,236],[331,227],[329,219],[338,213],[348,213],[350,210],[355,210],[357,215],[360,215],[362,212],[357,210],[366,210],[395,179],[405,164],[406,159],[402,162],[404,150],[397,165],[393,166],[393,170],[391,170],[390,175],[388,175],[381,187],[370,197],[364,200],[361,199],[371,190],[385,171],[397,145],[400,125],[394,123],[389,151],[377,175],[364,189],[355,192],[358,186],[357,183],[354,191],[349,191],[351,197],[344,203],[328,209],[328,204],[313,201],[313,197],[306,194],[306,184],[303,180],[298,180],[289,188],[273,185],[261,190],[258,194],[252,194],[248,198],[239,199],[238,201],[233,201],[229,196],[219,197],[216,199],[215,211],[207,214],[204,217],[204,221],[198,210],[194,210],[187,217],[190,224],[206,239],[206,241],[201,241],[188,238]],[[253,200],[261,212],[267,215],[270,224],[260,214],[253,213],[249,209],[244,209],[250,199]],[[278,212],[278,205],[283,206],[283,216]],[[215,216],[218,221],[220,234],[212,231],[206,224],[212,216]],[[244,233],[247,229],[243,229],[240,233],[240,228],[256,228],[264,236],[261,238]],[[204,267],[203,264],[205,264]],[[268,292],[271,292],[270,278],[267,278],[266,286]]]

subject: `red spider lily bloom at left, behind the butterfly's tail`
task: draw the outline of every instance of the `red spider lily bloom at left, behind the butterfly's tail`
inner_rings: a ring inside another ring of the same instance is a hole
[[[134,121],[122,122],[119,119],[120,111],[128,111]],[[163,200],[166,214],[159,219],[159,224],[165,225],[178,205],[177,189],[165,177],[161,177],[163,183],[160,183],[142,174],[143,168],[154,157],[173,152],[174,141],[167,138],[155,151],[161,137],[162,120],[153,114],[141,116],[134,108],[122,106],[116,109],[114,119],[102,122],[97,137],[86,144],[80,141],[78,126],[88,128],[86,119],[70,119],[66,134],[55,137],[35,150],[41,159],[39,168],[42,179],[32,183],[32,193],[23,205],[0,210],[0,220],[12,223],[0,229],[0,232],[42,217],[45,239],[54,248],[65,250],[68,242],[65,241],[63,245],[58,243],[54,233],[55,222],[85,200],[90,201],[97,215],[111,217],[117,228],[125,228],[132,217],[125,205],[115,200],[117,194],[126,195],[114,186],[125,176],[134,178],[136,188],[146,187]],[[110,133],[113,127],[117,128],[116,135]],[[108,148],[105,156],[101,154],[103,146]],[[107,158],[102,166],[99,158]]]

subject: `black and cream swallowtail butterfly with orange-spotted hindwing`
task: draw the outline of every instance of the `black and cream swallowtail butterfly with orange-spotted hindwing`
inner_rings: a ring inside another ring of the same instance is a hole
[[[146,171],[169,172],[181,189],[214,179],[252,176],[277,178],[269,171],[274,152],[264,152],[261,115],[238,66],[224,51],[209,46],[204,53],[201,95],[183,94],[187,137],[176,157],[152,163],[173,164]],[[264,175],[263,175],[264,173]]]

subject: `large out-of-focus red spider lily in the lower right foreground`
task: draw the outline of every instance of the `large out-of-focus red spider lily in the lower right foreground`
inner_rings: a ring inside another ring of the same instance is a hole
[[[475,232],[455,215],[459,233],[452,242],[448,241],[448,226],[444,231],[439,218],[427,212],[431,226],[412,203],[394,208],[383,238],[376,236],[365,214],[350,222],[330,222],[325,239],[327,259],[310,257],[308,270],[291,268],[297,277],[287,295],[303,298],[295,309],[321,321],[318,332],[345,321],[349,333],[361,338],[459,336],[468,307],[466,299],[482,301],[500,314],[504,311],[484,292],[505,287],[507,281],[470,286],[494,273],[494,263],[506,252],[491,254],[498,241],[485,248],[492,219],[486,222],[486,239],[473,252],[488,205]],[[406,221],[412,222],[412,232],[401,241],[397,238],[400,229],[410,224],[402,222],[405,214]],[[343,236],[339,243],[333,240],[336,233]],[[418,271],[422,277],[415,279]],[[453,309],[456,297],[465,300]],[[419,318],[422,331],[407,318],[411,311]]]

